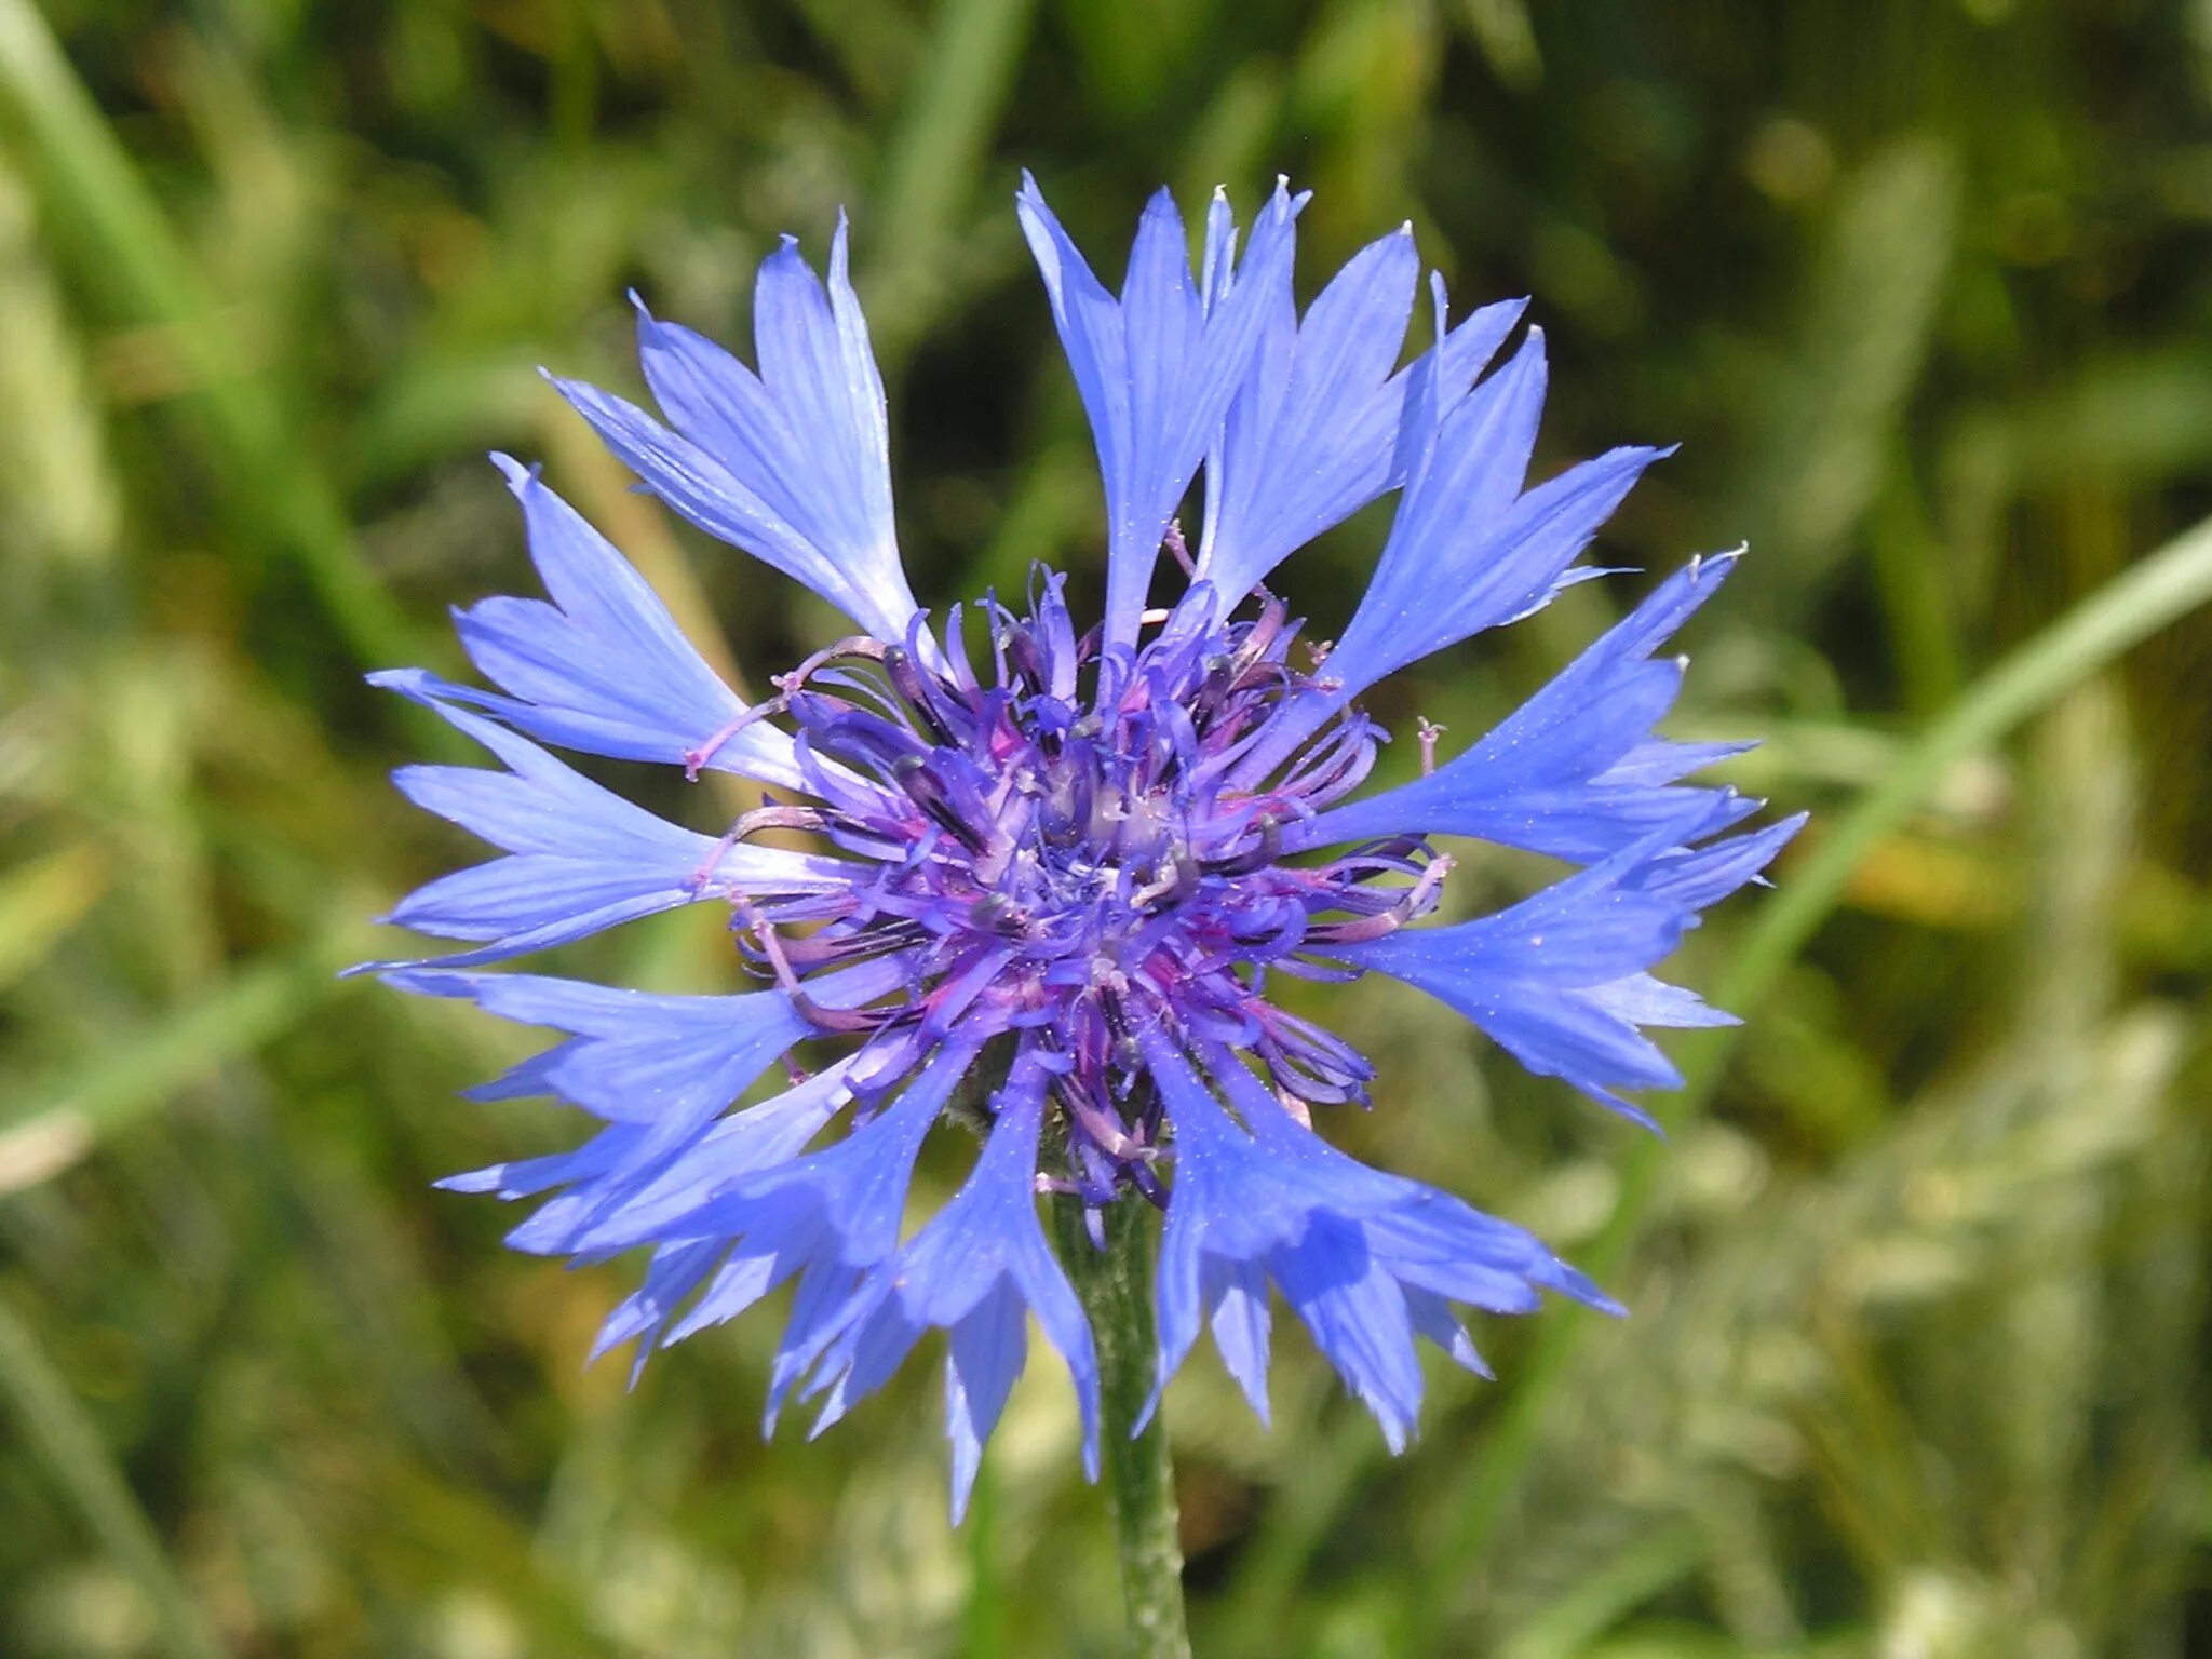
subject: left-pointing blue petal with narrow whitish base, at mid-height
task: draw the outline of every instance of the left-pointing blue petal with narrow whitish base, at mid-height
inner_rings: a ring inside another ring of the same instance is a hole
[[[422,701],[507,763],[507,772],[458,765],[394,772],[409,801],[509,854],[416,889],[385,918],[438,938],[487,940],[482,949],[440,958],[445,967],[566,945],[699,898],[818,894],[849,880],[836,858],[723,847],[602,790],[504,726],[436,697]],[[356,971],[380,967],[394,964]]]

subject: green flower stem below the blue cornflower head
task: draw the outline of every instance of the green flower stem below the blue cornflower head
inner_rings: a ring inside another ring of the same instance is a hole
[[[1099,1349],[1099,1449],[1121,1551],[1128,1650],[1135,1659],[1190,1659],[1168,1436],[1157,1416],[1130,1436],[1152,1387],[1152,1214],[1135,1199],[1106,1206],[1106,1248],[1097,1250],[1079,1203],[1060,1199],[1051,1212]]]

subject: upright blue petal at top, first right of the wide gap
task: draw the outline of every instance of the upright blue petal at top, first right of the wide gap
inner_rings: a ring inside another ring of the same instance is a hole
[[[1106,292],[1022,177],[1018,210],[1037,259],[1106,482],[1106,644],[1137,639],[1159,557],[1183,491],[1243,383],[1290,270],[1292,219],[1305,204],[1279,190],[1261,212],[1243,270],[1208,307],[1190,274],[1183,217],[1161,190],[1144,210],[1121,296]],[[1210,221],[1210,250],[1221,232]]]

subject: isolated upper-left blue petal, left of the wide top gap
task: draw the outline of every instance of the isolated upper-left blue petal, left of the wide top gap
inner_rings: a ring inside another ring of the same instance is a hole
[[[675,431],[597,387],[553,385],[677,513],[902,639],[916,604],[891,526],[883,378],[845,265],[843,219],[827,288],[792,239],[761,263],[759,374],[639,305],[646,380]]]

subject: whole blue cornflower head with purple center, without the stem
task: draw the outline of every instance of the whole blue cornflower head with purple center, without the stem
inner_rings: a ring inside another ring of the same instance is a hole
[[[1369,1064],[1270,1000],[1276,975],[1407,980],[1535,1073],[1641,1117],[1619,1091],[1677,1084],[1644,1026],[1723,1022],[1650,975],[1699,911],[1796,821],[1683,783],[1730,745],[1652,734],[1681,686],[1657,655],[1725,580],[1694,560],[1498,730],[1365,799],[1387,734],[1358,708],[1385,675],[1542,608],[1661,451],[1615,449],[1528,487],[1544,341],[1484,374],[1520,321],[1491,305],[1398,367],[1416,303],[1409,230],[1358,252],[1301,314],[1276,190],[1239,254],[1223,199],[1190,268],[1183,221],[1146,208],[1108,292],[1044,206],[1018,201],[1106,482],[1106,615],[1077,628],[1062,577],[1024,606],[916,606],[891,524],[883,383],[845,270],[796,243],[761,265],[759,367],[639,305],[664,420],[560,392],[699,529],[796,577],[856,633],[745,706],[639,575],[535,469],[498,458],[546,599],[458,615],[498,690],[378,675],[504,770],[405,768],[398,785],[502,856],[411,894],[389,920],[471,949],[378,964],[564,1037],[478,1091],[553,1095],[602,1121],[573,1152],[447,1186],[544,1197],[518,1250],[584,1261],[646,1248],[599,1347],[659,1345],[794,1283],[770,1422],[823,1422],[949,1334],[953,1511],[1020,1374],[1035,1314],[1075,1380],[1097,1464],[1097,1358],[1040,1225],[1040,1194],[1166,1210],[1159,1385],[1210,1325],[1265,1416],[1276,1292],[1391,1447],[1413,1431],[1413,1338],[1480,1369],[1458,1307],[1520,1314],[1542,1290],[1610,1307],[1528,1232],[1371,1170],[1312,1128],[1365,1102]],[[1190,555],[1175,524],[1206,473]],[[1374,582],[1334,648],[1263,586],[1367,502],[1398,493]],[[1179,593],[1152,608],[1161,551]],[[734,772],[765,785],[726,836],[692,834],[553,759]],[[816,849],[759,845],[805,832]],[[1575,865],[1453,927],[1411,927],[1475,836]],[[719,902],[759,989],[646,995],[487,964],[637,916]],[[790,1082],[732,1110],[776,1064]],[[803,1066],[812,1066],[805,1071]],[[982,1130],[960,1192],[900,1237],[916,1157]],[[1155,1389],[1155,1405],[1157,1405]]]

